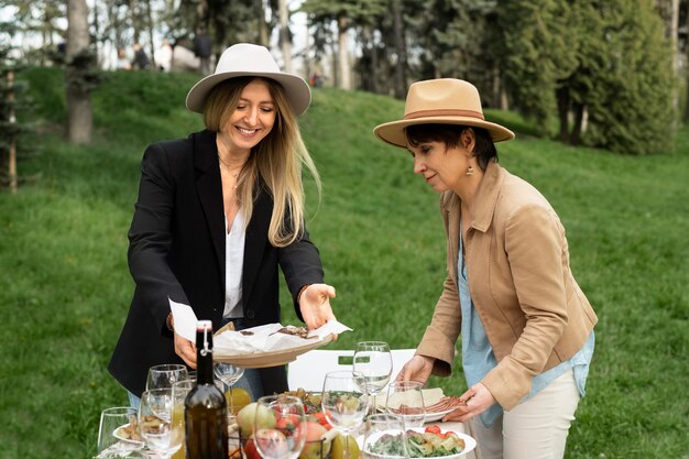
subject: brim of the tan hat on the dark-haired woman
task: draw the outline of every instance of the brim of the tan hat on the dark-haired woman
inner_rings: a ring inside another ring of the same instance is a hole
[[[503,142],[514,139],[514,132],[512,132],[507,128],[490,121],[483,121],[469,117],[426,117],[417,118],[414,120],[391,121],[373,128],[373,133],[375,134],[375,136],[384,142],[390,143],[391,145],[406,149],[408,142],[406,132],[404,132],[404,130],[409,125],[415,124],[471,125],[474,128],[485,129],[491,134],[491,139],[493,139],[493,142]]]

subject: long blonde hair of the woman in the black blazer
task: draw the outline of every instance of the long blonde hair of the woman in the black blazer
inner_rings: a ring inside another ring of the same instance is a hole
[[[261,77],[230,78],[218,84],[204,107],[204,123],[219,132],[237,108],[244,87],[254,79],[264,81],[275,103],[275,123],[271,132],[253,149],[237,177],[237,198],[248,225],[253,214],[254,189],[261,182],[273,198],[273,214],[267,238],[274,247],[289,245],[305,230],[305,199],[302,165],[310,172],[320,201],[320,176],[302,140],[299,127],[285,90],[277,81]],[[244,228],[245,229],[245,228]]]

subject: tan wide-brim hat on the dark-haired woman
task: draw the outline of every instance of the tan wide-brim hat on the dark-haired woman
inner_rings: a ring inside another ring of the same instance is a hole
[[[413,124],[461,124],[483,128],[493,142],[514,139],[514,132],[485,121],[479,90],[469,81],[438,78],[417,81],[409,87],[404,119],[373,129],[381,140],[395,146],[407,146],[405,129]]]

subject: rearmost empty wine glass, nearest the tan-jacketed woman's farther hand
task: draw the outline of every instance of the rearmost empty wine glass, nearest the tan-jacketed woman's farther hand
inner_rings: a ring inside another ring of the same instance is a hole
[[[362,373],[371,396],[371,411],[375,411],[376,395],[390,382],[392,375],[392,353],[385,341],[360,341],[353,357],[356,372]]]

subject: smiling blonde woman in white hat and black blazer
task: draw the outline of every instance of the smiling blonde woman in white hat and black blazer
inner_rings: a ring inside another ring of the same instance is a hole
[[[168,298],[217,330],[280,321],[278,266],[308,328],[333,319],[305,227],[302,164],[320,182],[296,122],[308,84],[280,70],[253,44],[226,50],[187,95],[206,129],[150,145],[129,231],[134,296],[110,372],[132,403],[160,363],[196,365],[195,346],[174,332]],[[247,370],[252,398],[287,390],[284,367]]]

